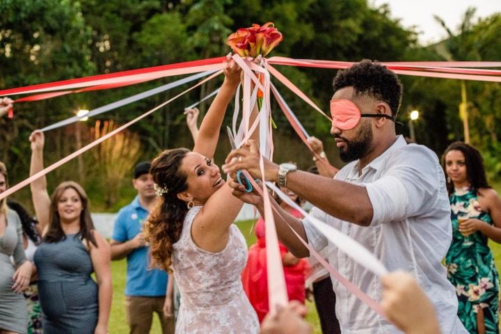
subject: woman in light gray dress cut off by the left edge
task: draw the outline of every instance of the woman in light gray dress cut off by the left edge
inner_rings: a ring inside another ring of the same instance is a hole
[[[7,186],[7,169],[0,162],[0,193]],[[6,203],[6,198],[0,201],[0,333],[26,333],[28,312],[22,292],[29,285],[33,264],[24,255],[21,220]]]

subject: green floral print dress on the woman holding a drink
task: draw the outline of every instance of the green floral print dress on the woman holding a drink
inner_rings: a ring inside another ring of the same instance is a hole
[[[447,278],[456,288],[458,316],[470,333],[477,333],[477,312],[484,311],[486,333],[499,333],[499,279],[488,238],[482,232],[463,237],[458,217],[476,218],[493,224],[491,216],[479,206],[472,189],[456,189],[450,196],[452,244],[445,257]]]

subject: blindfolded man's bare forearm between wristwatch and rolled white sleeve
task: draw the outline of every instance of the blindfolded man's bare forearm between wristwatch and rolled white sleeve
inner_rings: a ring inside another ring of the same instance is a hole
[[[298,170],[287,175],[287,188],[343,221],[362,226],[372,221],[372,203],[364,186]]]

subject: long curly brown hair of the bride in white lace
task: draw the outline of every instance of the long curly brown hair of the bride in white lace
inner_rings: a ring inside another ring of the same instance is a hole
[[[152,267],[170,270],[173,244],[179,240],[186,203],[177,194],[188,189],[186,175],[180,170],[182,160],[190,150],[175,148],[161,152],[152,162],[150,173],[153,181],[164,189],[152,213],[145,223],[145,239],[150,243]]]

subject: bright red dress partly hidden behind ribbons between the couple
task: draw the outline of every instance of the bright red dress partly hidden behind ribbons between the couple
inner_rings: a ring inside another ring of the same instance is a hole
[[[302,218],[301,213],[296,209],[293,209],[289,214],[296,218]],[[250,304],[253,305],[259,321],[262,322],[269,312],[267,255],[263,218],[259,218],[257,221],[255,234],[257,240],[248,250],[248,260],[241,279]],[[278,243],[278,246],[280,255],[283,257],[289,250],[281,243]],[[294,266],[283,267],[289,301],[305,302],[305,276],[309,268],[305,259],[299,260]]]

